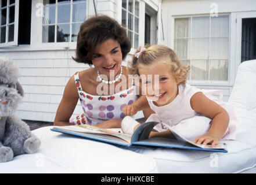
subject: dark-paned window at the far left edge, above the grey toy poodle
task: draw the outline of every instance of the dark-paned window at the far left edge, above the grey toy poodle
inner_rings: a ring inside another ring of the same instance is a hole
[[[16,3],[15,0],[0,0],[0,46],[13,45],[16,38]]]

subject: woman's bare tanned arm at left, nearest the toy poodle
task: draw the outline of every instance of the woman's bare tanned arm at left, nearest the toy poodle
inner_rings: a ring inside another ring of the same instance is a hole
[[[57,108],[56,116],[53,125],[65,126],[71,125],[69,119],[72,116],[79,95],[77,87],[75,86],[74,76],[72,76],[64,89],[62,101],[60,101],[59,107]]]

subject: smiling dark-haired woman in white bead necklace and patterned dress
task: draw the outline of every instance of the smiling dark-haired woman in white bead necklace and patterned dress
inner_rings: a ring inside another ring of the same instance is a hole
[[[95,16],[82,23],[73,59],[94,67],[70,78],[54,125],[71,125],[69,119],[80,99],[84,114],[75,118],[73,124],[120,128],[125,116],[122,109],[139,94],[128,79],[127,68],[121,65],[130,49],[125,29],[113,18]]]

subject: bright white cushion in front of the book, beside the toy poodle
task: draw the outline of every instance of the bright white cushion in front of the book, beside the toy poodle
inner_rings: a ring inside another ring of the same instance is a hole
[[[37,153],[0,164],[0,173],[157,173],[152,157],[106,143],[60,134],[51,127],[35,129]]]

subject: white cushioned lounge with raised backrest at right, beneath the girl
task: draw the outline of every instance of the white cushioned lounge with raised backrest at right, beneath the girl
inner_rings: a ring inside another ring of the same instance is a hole
[[[229,102],[239,116],[236,140],[226,140],[228,153],[178,149],[132,150],[153,157],[161,173],[239,173],[256,166],[256,60],[239,66]]]

